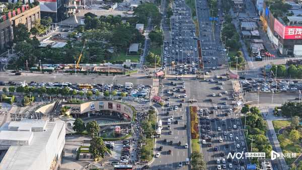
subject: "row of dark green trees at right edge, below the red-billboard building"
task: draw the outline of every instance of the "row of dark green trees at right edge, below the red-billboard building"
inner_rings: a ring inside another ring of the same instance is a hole
[[[302,78],[302,65],[289,65],[288,68],[284,64],[272,65],[271,73],[277,77]]]

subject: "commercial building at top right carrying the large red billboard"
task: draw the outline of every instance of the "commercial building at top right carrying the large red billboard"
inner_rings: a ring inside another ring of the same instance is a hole
[[[292,11],[292,16],[284,14],[284,17],[275,18],[269,6],[263,3],[263,12],[260,17],[263,29],[278,53],[283,56],[302,56],[302,17],[300,16],[302,9],[297,8],[298,5],[292,5],[289,10],[289,12]]]

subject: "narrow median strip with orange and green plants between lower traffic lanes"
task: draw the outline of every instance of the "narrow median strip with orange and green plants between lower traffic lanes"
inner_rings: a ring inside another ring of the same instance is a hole
[[[192,152],[200,152],[197,107],[190,106],[190,130]]]

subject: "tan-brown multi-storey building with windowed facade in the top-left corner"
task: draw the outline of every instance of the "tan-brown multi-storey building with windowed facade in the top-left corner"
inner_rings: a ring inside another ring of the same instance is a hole
[[[0,17],[0,50],[10,46],[14,40],[14,27],[18,24],[26,25],[28,31],[40,19],[40,6],[30,8],[23,5]]]

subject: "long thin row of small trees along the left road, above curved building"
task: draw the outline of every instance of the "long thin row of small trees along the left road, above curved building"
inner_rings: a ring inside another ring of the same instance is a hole
[[[30,94],[37,94],[37,95],[48,95],[48,96],[54,96],[54,95],[61,95],[61,96],[81,96],[84,97],[86,95],[87,98],[92,98],[93,97],[93,92],[92,91],[87,91],[86,93],[84,93],[83,91],[76,91],[76,90],[70,90],[69,88],[65,87],[65,88],[45,88],[45,87],[41,87],[41,88],[35,88],[35,87],[29,87],[29,86],[19,86],[17,88],[15,87],[10,87],[9,89],[7,88],[3,88],[2,91],[7,94],[14,94],[15,92],[20,93],[22,95],[30,95]],[[98,97],[101,95],[100,91],[96,91],[95,96]],[[105,97],[109,97],[111,96],[117,96],[117,91],[111,91],[111,93],[109,91],[105,91],[103,94]],[[128,94],[127,93],[120,93],[121,97],[126,97]]]

